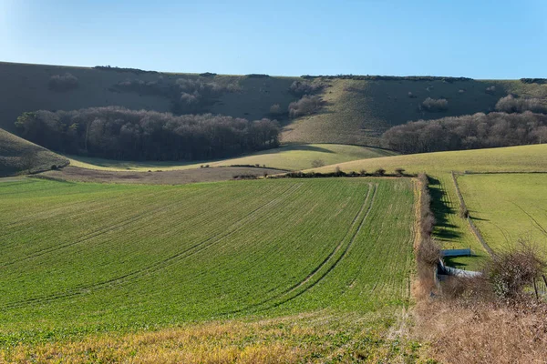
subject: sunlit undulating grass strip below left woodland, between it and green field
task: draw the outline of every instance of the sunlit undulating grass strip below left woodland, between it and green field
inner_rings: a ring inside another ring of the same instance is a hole
[[[209,165],[210,167],[233,165],[260,165],[261,167],[266,166],[285,170],[300,170],[313,167],[312,163],[314,161],[321,161],[325,166],[328,166],[350,160],[386,157],[393,155],[396,155],[396,153],[372,147],[343,146],[336,144],[312,144],[279,147],[255,153],[246,157],[222,159],[219,161],[206,161],[201,163],[184,164],[177,162],[131,162],[70,156],[70,165],[74,167],[82,167],[88,169],[113,171],[131,170],[138,172],[147,172],[149,170],[165,171],[191,169],[199,168],[205,165]]]

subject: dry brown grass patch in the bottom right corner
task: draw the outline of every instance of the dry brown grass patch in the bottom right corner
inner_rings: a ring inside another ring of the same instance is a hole
[[[547,362],[547,306],[455,300],[421,301],[416,308],[419,339],[428,354],[446,363]]]

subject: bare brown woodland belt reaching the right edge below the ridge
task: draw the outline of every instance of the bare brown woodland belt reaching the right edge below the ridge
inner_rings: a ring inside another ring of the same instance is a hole
[[[401,153],[547,143],[547,116],[527,111],[418,120],[393,126],[383,138],[387,147]]]

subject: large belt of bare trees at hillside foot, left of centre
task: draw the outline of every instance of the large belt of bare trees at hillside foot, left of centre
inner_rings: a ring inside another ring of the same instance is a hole
[[[38,145],[91,157],[180,160],[232,157],[279,145],[277,122],[173,116],[123,107],[25,113],[15,125]]]

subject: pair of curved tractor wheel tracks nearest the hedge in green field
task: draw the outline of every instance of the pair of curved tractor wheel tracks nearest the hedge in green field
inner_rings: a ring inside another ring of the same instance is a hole
[[[248,310],[248,309],[253,309],[253,308],[258,308],[258,309],[256,309],[257,311],[263,311],[263,310],[268,309],[268,308],[274,308],[274,307],[280,306],[280,305],[282,305],[282,304],[284,304],[284,303],[286,303],[286,302],[288,302],[288,301],[290,301],[294,298],[297,298],[298,296],[302,295],[304,292],[306,292],[309,289],[315,287],[315,285],[317,283],[321,282],[334,268],[336,268],[336,266],[340,263],[340,261],[342,261],[342,259],[346,257],[346,254],[347,254],[349,248],[351,248],[353,246],[353,243],[355,242],[356,237],[358,236],[359,232],[361,231],[361,228],[365,225],[366,218],[368,217],[370,211],[372,210],[372,207],[374,206],[374,201],[375,201],[375,198],[377,196],[377,189],[378,189],[377,184],[375,184],[375,185],[369,184],[368,186],[369,187],[368,187],[368,190],[366,192],[365,201],[363,202],[363,205],[359,209],[359,211],[357,211],[356,216],[354,217],[354,219],[352,220],[349,228],[347,229],[344,238],[342,238],[340,240],[340,242],[336,245],[335,249],[333,251],[331,251],[331,253],[323,260],[323,262],[321,262],[321,264],[319,266],[317,266],[306,278],[304,278],[304,280],[294,284],[290,288],[285,289],[284,292],[274,296],[273,298],[265,299],[262,302],[254,304],[252,306],[248,306],[246,308],[241,308],[241,309],[237,309],[237,310],[234,310],[234,311],[225,312],[224,314],[226,314],[226,315],[234,314],[234,313],[242,312],[242,311],[245,311],[245,310]],[[364,213],[364,216],[363,216],[363,212],[365,210],[366,210],[366,212]],[[360,216],[363,216],[363,217],[360,218]],[[346,241],[347,236],[350,234],[350,231],[353,229],[353,227],[356,226],[357,221],[358,221],[358,227],[356,228],[356,231],[355,231],[355,233],[353,233],[351,238],[349,238],[349,241],[346,244],[346,248],[344,248],[344,251],[342,252],[342,254],[338,258],[333,259],[333,257],[335,257],[335,254],[337,252],[339,252],[344,247],[344,242]],[[334,260],[334,262],[332,262],[330,267],[328,267],[326,269],[326,271],[321,275],[319,272],[322,270],[322,268],[327,267],[328,264],[332,260]],[[304,286],[306,286],[306,284],[308,282],[312,281],[315,278],[315,276],[317,276],[318,274],[319,274],[319,278],[317,278],[315,281],[313,281],[307,287],[304,287]],[[299,288],[302,288],[302,287],[304,287],[304,289],[298,290]],[[294,292],[296,292],[296,293],[294,294]],[[292,295],[292,294],[294,294],[294,295]],[[289,296],[289,297],[287,297],[287,296]],[[274,303],[272,304],[273,301],[274,301]],[[267,305],[268,303],[270,303],[270,305]],[[263,307],[263,308],[260,308],[261,306],[264,306],[264,305],[266,305],[266,306]]]

